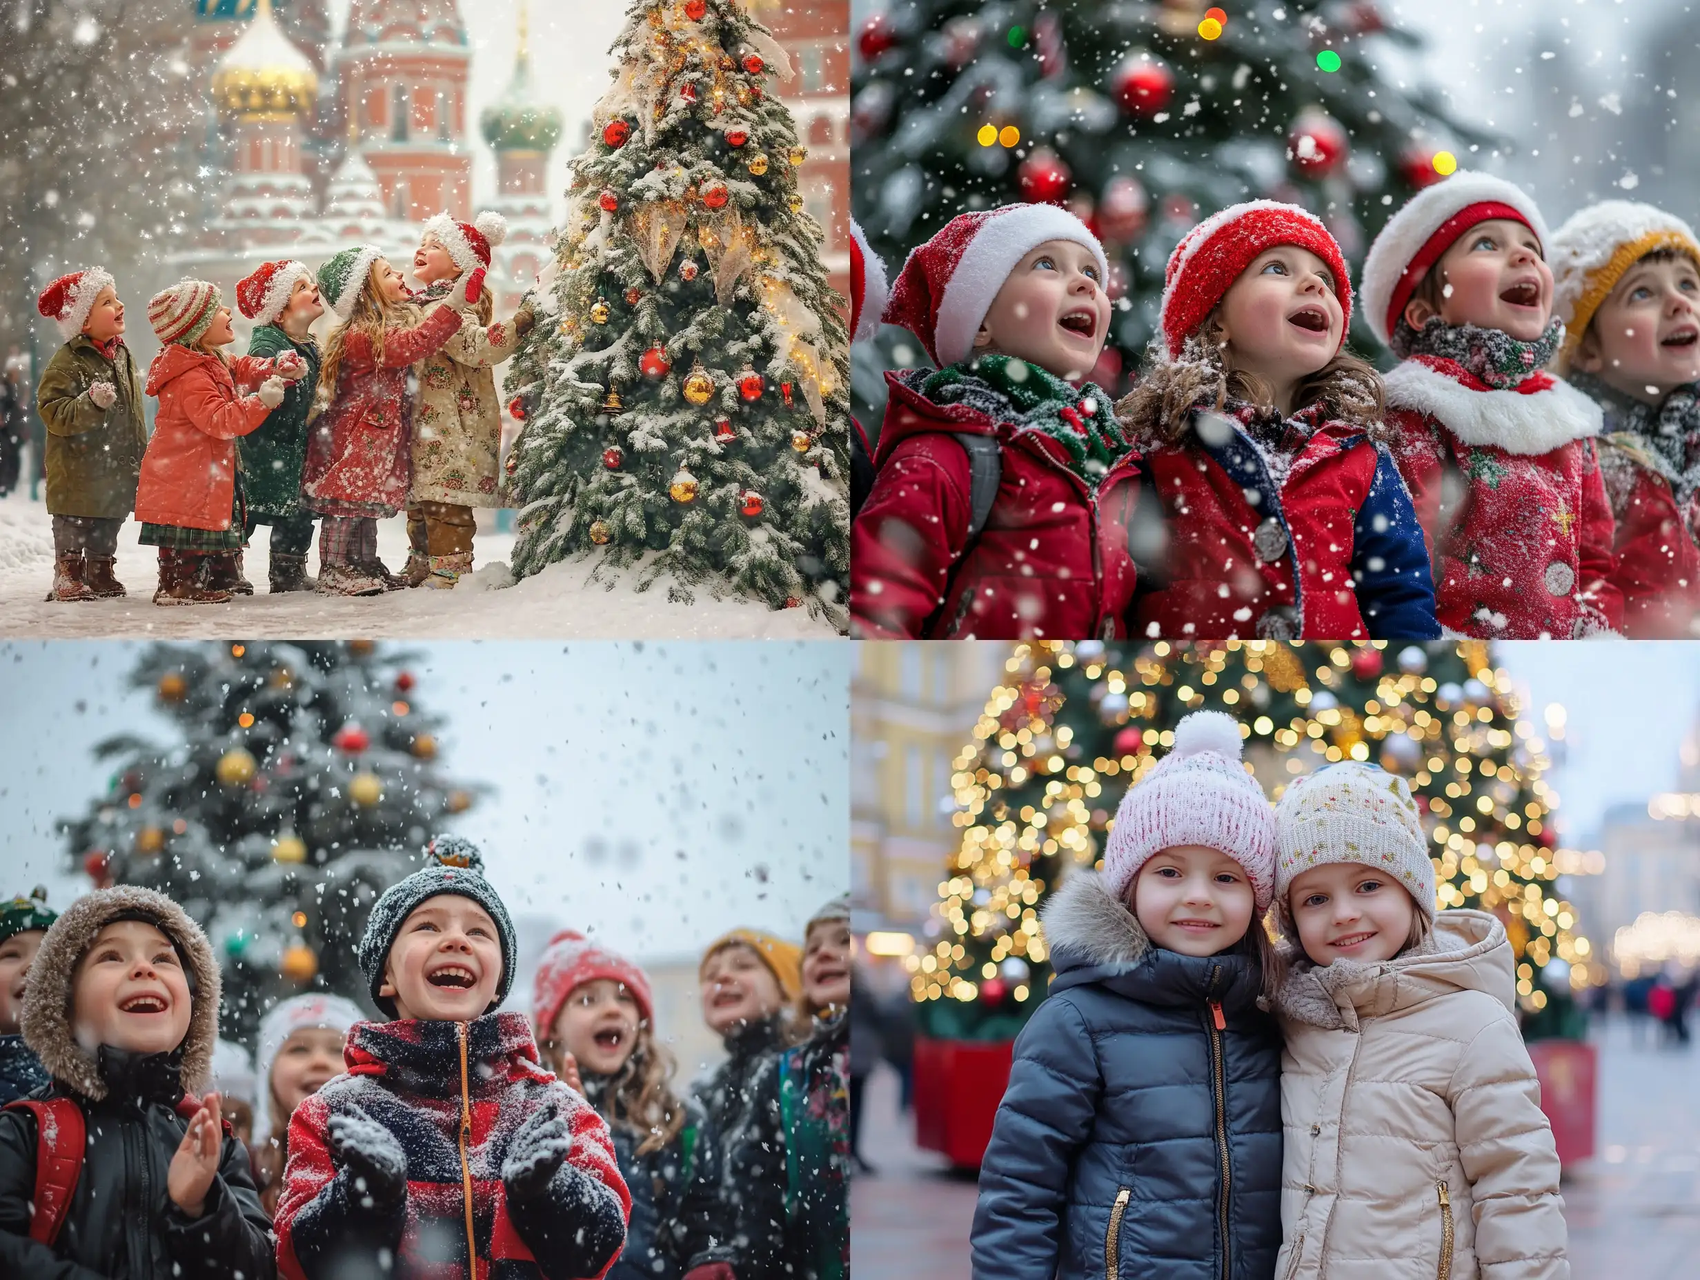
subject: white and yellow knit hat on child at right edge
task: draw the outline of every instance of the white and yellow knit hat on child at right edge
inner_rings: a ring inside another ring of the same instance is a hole
[[[1606,294],[1630,267],[1659,248],[1686,253],[1700,267],[1700,241],[1693,228],[1651,204],[1590,204],[1552,233],[1552,313],[1564,321],[1561,372],[1569,369]]]

